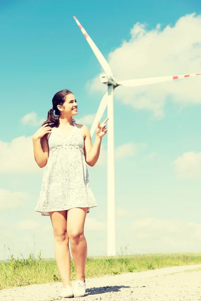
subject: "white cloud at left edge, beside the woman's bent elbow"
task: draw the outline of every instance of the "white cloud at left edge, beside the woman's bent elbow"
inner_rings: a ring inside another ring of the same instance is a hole
[[[0,173],[41,173],[35,162],[32,137],[0,141]]]

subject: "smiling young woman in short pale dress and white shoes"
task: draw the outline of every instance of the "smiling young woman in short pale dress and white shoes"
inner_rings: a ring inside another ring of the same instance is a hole
[[[96,128],[92,146],[88,128],[76,124],[77,102],[70,90],[57,92],[47,120],[33,135],[34,158],[45,167],[36,211],[49,215],[54,233],[54,250],[63,282],[60,296],[80,297],[85,294],[87,244],[84,222],[89,209],[97,206],[89,187],[86,163],[94,166],[100,143],[107,133],[106,122]],[[70,252],[76,268],[76,282],[70,280]]]

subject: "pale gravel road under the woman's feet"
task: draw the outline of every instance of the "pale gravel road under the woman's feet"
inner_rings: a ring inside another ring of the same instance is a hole
[[[58,297],[61,286],[61,282],[56,282],[3,289],[0,300],[57,301],[61,300]],[[76,298],[77,301],[198,301],[201,264],[86,279],[86,286],[86,295]]]

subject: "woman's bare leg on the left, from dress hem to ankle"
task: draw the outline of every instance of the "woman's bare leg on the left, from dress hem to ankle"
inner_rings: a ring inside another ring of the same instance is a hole
[[[54,232],[54,252],[63,286],[71,285],[67,211],[49,212]]]

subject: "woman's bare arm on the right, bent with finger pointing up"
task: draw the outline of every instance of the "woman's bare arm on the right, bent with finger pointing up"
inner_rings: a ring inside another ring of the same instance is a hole
[[[95,135],[95,141],[94,144],[92,145],[91,143],[91,135],[86,126],[84,126],[84,133],[85,133],[85,140],[84,140],[84,155],[85,155],[85,160],[86,163],[93,167],[100,154],[100,144],[102,141],[103,136],[107,133],[106,129],[106,122],[108,121],[109,118],[107,118],[101,125],[98,122],[97,128],[96,128],[96,135]]]

